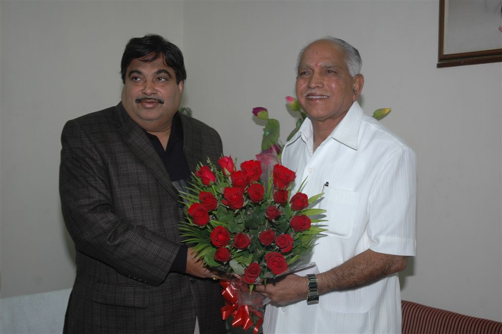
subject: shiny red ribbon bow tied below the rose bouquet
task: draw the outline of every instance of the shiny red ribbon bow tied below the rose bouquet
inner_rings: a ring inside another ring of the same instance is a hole
[[[263,323],[263,315],[260,311],[250,305],[239,305],[238,290],[229,281],[220,280],[220,285],[223,287],[223,298],[225,299],[225,306],[221,307],[221,318],[226,320],[230,315],[233,316],[232,326],[242,326],[248,329],[253,325],[253,320],[249,312],[258,316],[254,334],[258,334],[258,329]]]

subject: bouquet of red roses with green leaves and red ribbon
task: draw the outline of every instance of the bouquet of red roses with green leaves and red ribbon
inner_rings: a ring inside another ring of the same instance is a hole
[[[309,207],[322,193],[308,198],[300,186],[290,196],[296,175],[280,164],[274,166],[266,184],[260,179],[262,167],[257,160],[245,161],[236,170],[231,157],[223,156],[218,165],[208,160],[192,175],[191,187],[181,194],[187,221],[180,229],[184,242],[195,245],[194,251],[207,266],[238,278],[221,283],[224,295],[235,296],[243,285],[250,294],[254,283],[285,273],[325,231],[315,226],[323,220],[311,218],[325,210]],[[256,309],[249,309],[256,306],[256,298],[241,294],[237,300],[225,299],[222,314],[224,318],[232,314],[234,326],[247,329],[252,325],[249,311],[261,317]]]

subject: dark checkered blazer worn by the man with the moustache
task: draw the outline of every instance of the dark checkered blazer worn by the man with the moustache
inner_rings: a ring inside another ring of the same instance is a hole
[[[181,115],[193,172],[216,162],[221,139]],[[64,332],[225,333],[219,285],[170,272],[182,206],[144,130],[119,103],[69,121],[61,136],[60,196],[77,274]]]

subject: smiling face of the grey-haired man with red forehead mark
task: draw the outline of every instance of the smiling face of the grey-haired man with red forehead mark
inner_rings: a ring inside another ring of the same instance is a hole
[[[318,40],[300,58],[296,95],[313,124],[334,129],[359,97],[363,83],[361,74],[350,75],[341,46]]]

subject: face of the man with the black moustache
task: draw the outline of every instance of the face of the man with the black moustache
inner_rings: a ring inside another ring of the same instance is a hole
[[[183,81],[163,57],[151,62],[133,59],[127,67],[122,105],[129,116],[149,132],[170,129],[183,93]]]

